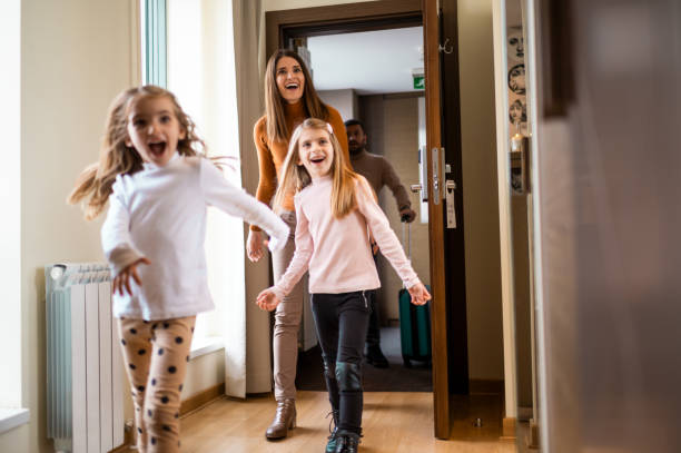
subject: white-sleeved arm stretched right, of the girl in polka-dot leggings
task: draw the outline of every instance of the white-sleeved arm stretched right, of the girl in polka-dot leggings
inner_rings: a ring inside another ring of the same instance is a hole
[[[269,235],[272,252],[284,248],[288,239],[288,226],[269,209],[267,205],[235,187],[225,179],[210,161],[200,159],[201,190],[206,203],[225,213],[243,218],[244,221],[257,225]]]

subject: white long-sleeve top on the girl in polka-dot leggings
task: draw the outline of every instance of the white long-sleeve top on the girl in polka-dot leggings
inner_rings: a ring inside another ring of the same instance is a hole
[[[117,275],[141,257],[141,285],[132,295],[114,295],[114,316],[147,321],[193,316],[214,307],[208,292],[206,210],[218,209],[258,225],[269,236],[270,250],[284,246],[289,230],[266,205],[230,185],[203,157],[176,154],[164,167],[116,178],[109,211],[101,228],[105,256]]]

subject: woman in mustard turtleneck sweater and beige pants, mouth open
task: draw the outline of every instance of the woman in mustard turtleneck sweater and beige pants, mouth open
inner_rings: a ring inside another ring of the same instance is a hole
[[[340,147],[349,161],[347,136],[343,118],[336,109],[322,102],[315,91],[305,61],[293,50],[279,49],[267,62],[265,75],[265,115],[254,127],[258,151],[259,181],[256,198],[269,204],[277,189],[288,141],[293,130],[306,118],[319,118],[332,125]],[[288,267],[295,250],[296,214],[293,191],[279,206],[282,219],[292,228],[283,250],[273,254],[275,284]],[[246,250],[251,262],[263,257],[263,234],[251,225]],[[286,437],[296,425],[296,362],[298,358],[298,329],[303,313],[303,284],[277,306],[273,334],[274,382],[277,411],[265,436],[268,440]]]

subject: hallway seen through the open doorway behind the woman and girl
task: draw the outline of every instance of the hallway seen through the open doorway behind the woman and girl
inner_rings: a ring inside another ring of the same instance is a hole
[[[336,108],[344,120],[362,121],[364,149],[351,146],[355,170],[373,180],[381,207],[401,239],[412,265],[424,283],[430,282],[427,203],[409,190],[420,183],[418,149],[425,146],[425,102],[423,89],[423,29],[359,31],[293,39],[295,50],[308,60],[319,97]],[[383,160],[381,160],[383,159]],[[381,175],[367,175],[369,163],[382,163]],[[387,168],[389,166],[389,169]],[[382,185],[382,187],[378,187]],[[413,221],[401,221],[401,207],[414,211]],[[409,247],[414,244],[414,247]],[[382,287],[376,292],[376,332],[369,334],[365,391],[432,392],[431,356],[403,356],[398,297],[402,282],[381,253],[377,268]],[[306,306],[309,312],[309,306]],[[304,316],[303,348],[297,388],[325,390],[318,346],[308,341],[314,326]],[[409,325],[411,328],[411,325]],[[369,328],[372,332],[372,328]],[[418,329],[430,339],[430,332]],[[373,335],[373,336],[372,336]],[[387,361],[383,362],[383,357]],[[381,360],[381,362],[379,362]],[[386,366],[386,367],[384,367]]]

